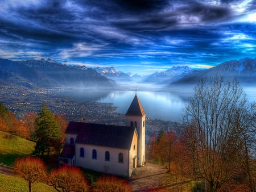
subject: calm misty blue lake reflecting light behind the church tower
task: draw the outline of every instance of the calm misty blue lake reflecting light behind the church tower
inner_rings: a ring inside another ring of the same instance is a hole
[[[249,101],[256,101],[254,87],[244,89],[244,91]],[[131,90],[74,89],[57,91],[57,95],[73,97],[80,101],[113,103],[117,107],[115,112],[122,114],[128,110],[135,94],[136,92]],[[193,91],[192,88],[175,92],[137,91],[137,95],[148,118],[178,122]]]

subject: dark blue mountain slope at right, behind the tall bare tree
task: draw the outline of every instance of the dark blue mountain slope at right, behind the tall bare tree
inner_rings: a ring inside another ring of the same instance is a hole
[[[169,86],[197,84],[200,78],[223,76],[224,80],[232,80],[237,78],[241,85],[255,84],[256,81],[256,59],[244,58],[240,60],[231,60],[223,62],[213,68],[206,70],[195,70],[193,73],[172,82]]]

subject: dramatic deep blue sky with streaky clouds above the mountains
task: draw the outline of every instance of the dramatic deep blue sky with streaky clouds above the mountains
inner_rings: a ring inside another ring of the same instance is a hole
[[[1,0],[0,58],[150,74],[255,58],[256,1]]]

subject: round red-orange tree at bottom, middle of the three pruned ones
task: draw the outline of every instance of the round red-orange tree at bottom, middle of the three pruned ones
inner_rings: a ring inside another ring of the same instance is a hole
[[[47,184],[57,191],[88,191],[89,185],[84,173],[75,166],[61,166],[52,169],[47,177]]]

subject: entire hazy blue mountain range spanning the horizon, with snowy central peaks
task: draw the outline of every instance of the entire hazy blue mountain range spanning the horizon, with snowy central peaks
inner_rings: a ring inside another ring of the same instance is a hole
[[[240,59],[223,62],[210,69],[194,70],[188,66],[155,72],[147,76],[123,73],[115,68],[86,68],[65,65],[51,59],[11,61],[0,59],[0,84],[38,87],[115,87],[122,84],[154,85],[175,87],[196,84],[202,77],[237,77],[241,84],[254,84],[256,80],[256,59]]]

